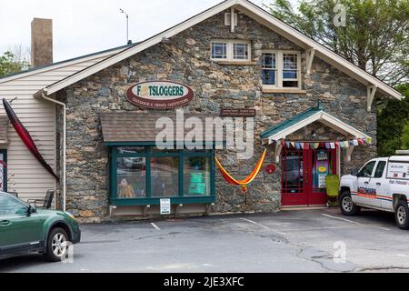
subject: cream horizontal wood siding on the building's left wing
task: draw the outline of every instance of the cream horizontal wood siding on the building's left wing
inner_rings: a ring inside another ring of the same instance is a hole
[[[113,51],[113,55],[117,51]],[[12,79],[0,79],[0,99],[17,99],[12,103],[16,115],[33,136],[35,144],[45,161],[56,172],[56,132],[55,105],[45,100],[37,100],[33,95],[48,85],[73,75],[90,65],[104,60],[107,56],[95,55],[94,59],[86,57],[68,65],[50,65],[49,70],[39,69],[33,74],[22,74]],[[3,104],[0,103],[0,115],[5,115]],[[35,157],[27,150],[12,125],[8,125],[7,145],[0,149],[7,150],[7,188],[9,192],[17,192],[23,200],[41,199],[48,189],[56,188],[53,176],[41,166]],[[58,174],[58,173],[57,173]]]

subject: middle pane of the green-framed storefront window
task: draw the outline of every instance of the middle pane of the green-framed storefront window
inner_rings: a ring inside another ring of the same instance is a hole
[[[153,197],[179,196],[179,158],[151,159],[151,191]]]

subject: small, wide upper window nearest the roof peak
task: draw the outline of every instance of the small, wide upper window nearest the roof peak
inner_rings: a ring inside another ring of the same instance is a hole
[[[215,61],[250,61],[250,43],[235,40],[214,41],[211,58]]]

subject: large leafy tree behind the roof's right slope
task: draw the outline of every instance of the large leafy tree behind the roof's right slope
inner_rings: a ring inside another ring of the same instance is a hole
[[[388,83],[409,79],[407,0],[272,0],[270,12]],[[337,23],[345,8],[345,23]],[[335,20],[335,21],[334,21]]]

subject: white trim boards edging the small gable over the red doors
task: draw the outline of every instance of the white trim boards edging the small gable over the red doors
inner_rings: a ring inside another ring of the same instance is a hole
[[[304,128],[306,125],[311,125],[315,121],[322,122],[324,125],[330,126],[334,130],[340,132],[345,136],[352,135],[355,138],[372,138],[371,136],[364,134],[362,131],[354,128],[353,126],[345,124],[343,121],[339,120],[333,115],[329,115],[324,111],[318,111],[314,115],[305,118],[295,125],[291,125],[274,135],[268,136],[267,138],[265,138],[265,140],[268,140],[268,144],[271,145],[281,139],[285,139],[288,135],[293,134],[301,128]]]

